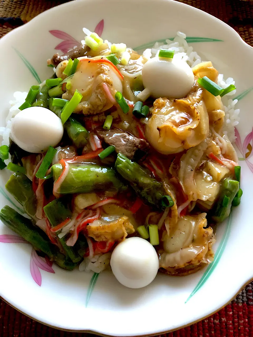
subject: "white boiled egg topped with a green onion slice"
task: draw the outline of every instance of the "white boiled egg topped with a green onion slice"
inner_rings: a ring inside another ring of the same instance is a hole
[[[183,98],[194,84],[194,74],[185,61],[154,57],[144,64],[142,81],[154,98]]]

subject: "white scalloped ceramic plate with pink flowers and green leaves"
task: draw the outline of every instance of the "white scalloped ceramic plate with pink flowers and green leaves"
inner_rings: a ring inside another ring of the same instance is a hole
[[[238,126],[241,140],[237,141],[238,155],[242,159],[242,203],[233,210],[230,222],[218,228],[215,262],[196,274],[181,278],[159,274],[149,286],[129,289],[120,285],[110,272],[103,272],[96,278],[92,273],[78,270],[66,272],[56,265],[52,267],[55,274],[45,265],[38,269],[33,255],[33,277],[38,284],[40,275],[42,279],[39,286],[30,273],[31,246],[0,243],[0,295],[25,314],[60,329],[115,336],[171,331],[217,311],[253,277],[253,153],[247,153],[252,146],[253,49],[223,22],[179,2],[69,2],[40,14],[0,40],[0,49],[4,51],[1,55],[0,125],[5,125],[12,93],[27,91],[39,79],[48,78],[52,69],[46,67],[46,60],[53,55],[56,45],[56,49],[64,50],[80,43],[84,38],[83,27],[92,31],[96,27],[103,38],[125,42],[132,48],[174,37],[180,30],[194,37],[192,45],[202,60],[213,61],[225,77],[235,79],[241,109]],[[4,192],[8,178],[8,172],[4,171],[0,178],[1,207],[11,206],[13,202]],[[3,224],[0,224],[0,234],[13,235]],[[13,237],[1,238],[13,241]],[[198,291],[185,303],[201,278]],[[90,280],[95,284],[93,292]]]

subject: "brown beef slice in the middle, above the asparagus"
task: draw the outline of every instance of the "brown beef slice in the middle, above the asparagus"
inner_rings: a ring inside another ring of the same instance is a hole
[[[131,133],[122,131],[116,127],[111,127],[109,131],[96,128],[96,133],[109,145],[115,146],[117,153],[122,153],[129,159],[139,156],[141,151],[149,149],[148,143],[141,138],[133,136]],[[142,153],[142,155],[144,152]]]

